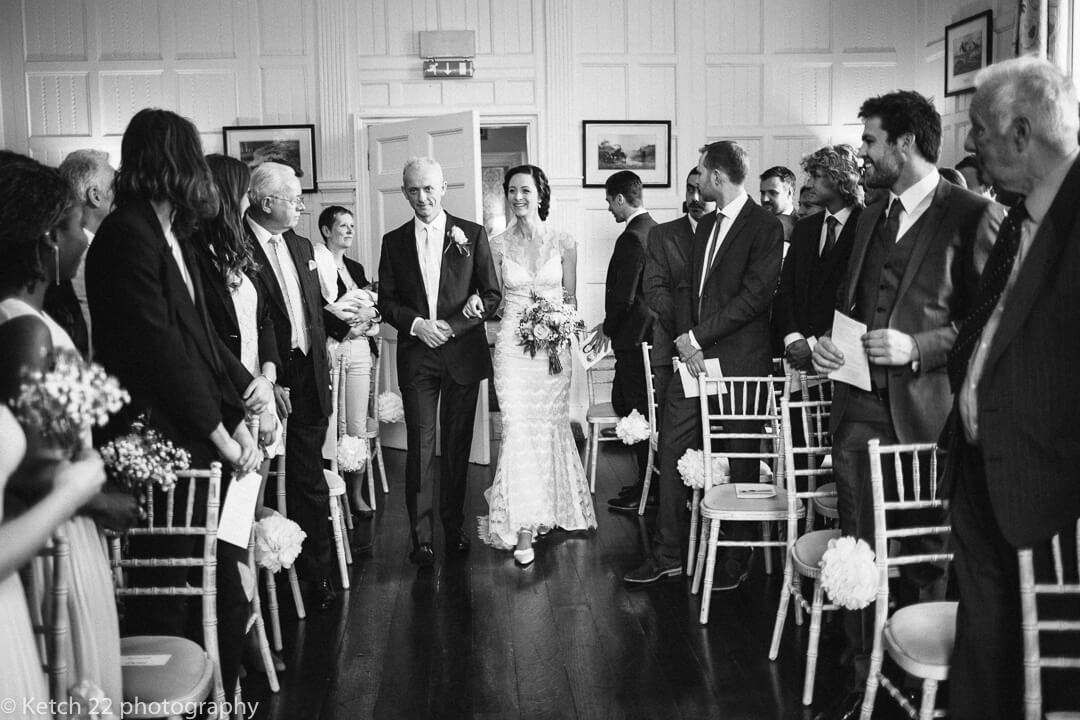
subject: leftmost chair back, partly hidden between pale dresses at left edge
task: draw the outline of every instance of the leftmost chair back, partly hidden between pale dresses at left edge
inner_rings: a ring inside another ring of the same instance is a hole
[[[72,641],[68,607],[70,576],[71,548],[60,525],[23,571],[23,587],[41,666],[49,676],[50,695],[57,702],[68,697],[68,657]]]

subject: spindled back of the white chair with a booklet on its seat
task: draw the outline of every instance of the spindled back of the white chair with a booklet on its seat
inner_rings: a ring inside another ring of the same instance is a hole
[[[678,379],[673,382],[678,382]],[[783,383],[784,378],[777,376],[710,378],[702,373],[698,377],[706,491],[719,480],[713,477],[713,454],[723,454],[729,461],[764,461],[772,468],[774,484],[784,486],[783,427],[780,422],[779,399]],[[717,400],[715,404],[711,403],[713,398]],[[725,423],[732,421],[760,423],[760,430],[725,430]],[[714,441],[724,440],[757,440],[758,445],[756,450],[713,449]]]

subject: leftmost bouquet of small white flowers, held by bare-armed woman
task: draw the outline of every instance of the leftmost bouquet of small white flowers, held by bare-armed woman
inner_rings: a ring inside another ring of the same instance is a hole
[[[75,350],[58,350],[51,370],[24,372],[13,410],[55,447],[73,453],[90,427],[131,402],[131,395],[100,365]]]

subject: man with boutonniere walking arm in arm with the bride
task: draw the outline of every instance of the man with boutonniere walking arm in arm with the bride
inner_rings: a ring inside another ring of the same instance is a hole
[[[445,193],[437,162],[414,158],[406,163],[402,194],[415,217],[383,235],[379,261],[379,312],[397,330],[397,380],[408,440],[409,559],[421,567],[435,561],[436,411],[443,451],[438,507],[446,549],[469,549],[462,529],[465,474],[480,382],[491,376],[484,318],[501,299],[487,233],[475,222],[446,213]],[[464,313],[473,293],[484,305],[481,316]]]

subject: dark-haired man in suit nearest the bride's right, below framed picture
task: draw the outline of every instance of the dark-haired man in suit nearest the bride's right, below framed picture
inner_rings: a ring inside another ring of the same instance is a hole
[[[642,291],[645,270],[645,245],[649,230],[657,227],[642,204],[642,178],[630,171],[613,173],[604,182],[604,199],[616,222],[626,229],[615,241],[608,261],[604,286],[604,323],[596,342],[611,342],[615,354],[615,379],[611,383],[611,405],[616,413],[625,417],[637,410],[649,417],[649,400],[645,388],[645,361],[640,343],[652,341],[652,311]],[[637,458],[635,481],[622,489],[608,503],[616,511],[637,511],[644,475],[648,465],[648,443],[634,446]]]

